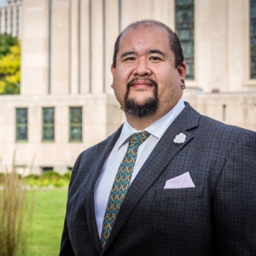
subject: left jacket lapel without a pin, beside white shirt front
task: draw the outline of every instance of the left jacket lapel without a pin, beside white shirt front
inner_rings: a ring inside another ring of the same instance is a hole
[[[91,182],[89,184],[86,183],[86,186],[88,186],[89,188],[89,193],[87,190],[87,193],[85,193],[84,195],[84,210],[87,216],[87,224],[89,227],[90,237],[92,238],[92,241],[94,242],[94,246],[96,247],[98,253],[101,253],[102,247],[100,244],[100,239],[96,225],[94,188],[98,177],[101,175],[102,166],[104,165],[104,162],[107,160],[108,155],[110,154],[114,144],[119,138],[121,130],[122,126],[119,127],[119,130],[116,131],[112,136],[108,137],[107,140],[98,144],[96,157],[93,165],[91,166],[93,177],[90,179]]]

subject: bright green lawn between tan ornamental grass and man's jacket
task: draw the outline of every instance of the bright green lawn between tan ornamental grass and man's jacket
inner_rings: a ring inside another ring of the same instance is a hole
[[[67,189],[37,189],[34,192],[32,237],[28,239],[27,255],[58,255],[66,212]]]

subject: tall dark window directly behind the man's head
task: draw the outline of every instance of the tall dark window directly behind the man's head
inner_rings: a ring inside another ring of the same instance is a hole
[[[175,31],[183,47],[187,64],[186,79],[195,79],[194,0],[175,0]]]

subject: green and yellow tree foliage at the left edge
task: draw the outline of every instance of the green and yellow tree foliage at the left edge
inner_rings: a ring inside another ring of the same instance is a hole
[[[20,42],[7,33],[0,35],[0,94],[20,93]]]

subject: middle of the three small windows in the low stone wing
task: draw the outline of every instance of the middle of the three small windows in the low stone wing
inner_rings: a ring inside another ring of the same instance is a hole
[[[55,141],[55,108],[43,108],[43,142]]]

